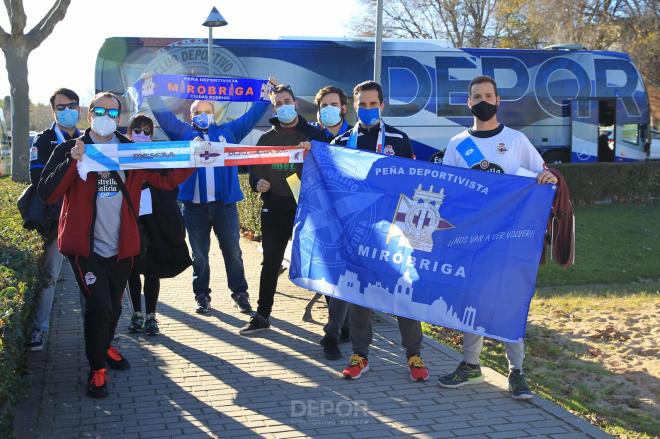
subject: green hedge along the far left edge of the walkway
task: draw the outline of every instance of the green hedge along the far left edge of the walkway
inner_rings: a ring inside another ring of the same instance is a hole
[[[25,366],[25,341],[38,267],[41,238],[23,229],[16,199],[25,185],[0,177],[0,437],[10,437]]]

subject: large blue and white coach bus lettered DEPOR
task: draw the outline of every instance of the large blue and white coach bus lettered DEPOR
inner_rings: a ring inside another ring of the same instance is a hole
[[[308,120],[316,120],[319,88],[334,84],[350,95],[355,84],[373,76],[373,42],[367,39],[213,43],[214,76],[274,76],[292,86]],[[143,73],[206,75],[207,53],[207,40],[201,39],[109,38],[97,57],[95,87],[123,94]],[[420,159],[441,160],[447,141],[472,124],[467,86],[481,74],[498,83],[500,121],[524,132],[547,162],[647,157],[647,93],[625,53],[574,47],[459,49],[435,40],[385,40],[382,54],[383,116],[408,133]],[[189,117],[190,102],[167,102],[179,117]],[[248,105],[217,105],[216,116],[230,120]],[[355,121],[352,102],[349,107],[348,119]],[[264,117],[244,143],[255,144],[268,128]]]

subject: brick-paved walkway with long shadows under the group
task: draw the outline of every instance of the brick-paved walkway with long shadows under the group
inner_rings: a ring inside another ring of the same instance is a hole
[[[256,305],[261,255],[255,243],[243,241],[242,247]],[[67,268],[47,348],[29,355],[32,386],[17,412],[16,437],[608,437],[549,401],[510,399],[506,378],[491,370],[484,384],[440,389],[436,378],[460,357],[431,340],[423,350],[431,379],[411,382],[398,330],[384,315],[375,323],[372,371],[346,381],[339,373],[346,358],[326,361],[318,345],[324,301],[314,308],[317,322],[303,323],[311,294],[285,277],[273,330],[241,337],[246,316],[231,306],[217,248],[212,260],[209,315],[193,312],[190,270],[162,283],[161,335],[128,335],[124,307],[116,345],[132,369],[109,372],[110,397],[101,401],[85,396],[78,293]],[[350,355],[350,346],[341,346]]]

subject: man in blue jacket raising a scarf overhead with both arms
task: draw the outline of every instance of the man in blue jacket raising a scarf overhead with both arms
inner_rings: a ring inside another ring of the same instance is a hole
[[[271,85],[276,85],[273,78],[269,78],[269,81]],[[243,116],[218,125],[215,122],[213,102],[194,101],[190,107],[191,123],[187,124],[168,111],[160,97],[151,96],[147,102],[160,127],[171,140],[203,139],[227,143],[240,143],[257,125],[269,106],[268,102],[254,103]],[[243,199],[238,168],[218,166],[196,169],[181,184],[178,199],[183,202],[183,218],[192,249],[196,311],[200,314],[209,312],[209,247],[213,229],[224,258],[231,298],[242,313],[251,313],[236,207],[236,203]]]

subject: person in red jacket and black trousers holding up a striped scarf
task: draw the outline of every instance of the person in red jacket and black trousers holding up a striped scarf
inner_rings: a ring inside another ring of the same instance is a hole
[[[166,173],[147,170],[91,172],[78,175],[85,144],[130,140],[117,131],[121,102],[112,93],[97,94],[89,106],[91,128],[82,137],[58,145],[39,180],[47,203],[63,198],[58,247],[67,256],[85,295],[85,352],[90,365],[87,395],[105,398],[106,364],[127,370],[128,361],[110,345],[121,313],[121,296],[135,256],[140,253],[137,212],[142,183],[174,189],[191,169]]]

